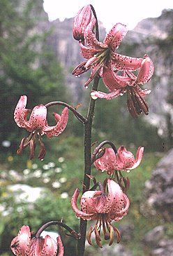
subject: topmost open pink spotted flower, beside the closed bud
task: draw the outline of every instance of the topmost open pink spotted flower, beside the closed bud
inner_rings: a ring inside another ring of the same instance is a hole
[[[79,41],[81,55],[87,61],[80,63],[80,65],[77,65],[73,70],[73,74],[79,76],[89,69],[93,69],[85,86],[88,86],[96,76],[104,78],[106,72],[105,67],[112,71],[116,70],[123,72],[135,71],[141,67],[143,61],[142,58],[132,58],[115,53],[115,50],[119,48],[119,44],[128,32],[126,25],[121,23],[114,25],[110,32],[105,36],[103,43],[96,39],[96,34],[93,33],[92,28],[93,24],[90,22],[84,31],[84,41]]]

